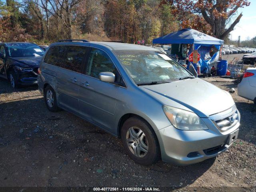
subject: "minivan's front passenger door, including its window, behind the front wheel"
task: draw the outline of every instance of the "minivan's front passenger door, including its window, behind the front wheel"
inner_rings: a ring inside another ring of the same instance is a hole
[[[79,106],[82,116],[94,124],[114,132],[114,113],[118,86],[99,80],[100,72],[117,72],[103,50],[92,48],[80,78]]]

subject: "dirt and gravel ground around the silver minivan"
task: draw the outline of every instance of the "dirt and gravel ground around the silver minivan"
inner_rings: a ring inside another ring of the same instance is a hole
[[[212,84],[237,90],[234,82]],[[69,112],[48,111],[36,86],[14,90],[0,79],[0,187],[255,191],[256,106],[237,92],[232,96],[241,126],[238,140],[228,151],[190,166],[159,161],[145,167],[124,153],[119,138]]]

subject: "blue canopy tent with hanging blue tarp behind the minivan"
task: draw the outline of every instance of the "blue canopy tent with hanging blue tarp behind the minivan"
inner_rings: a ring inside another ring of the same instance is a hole
[[[209,64],[219,55],[220,46],[223,43],[223,40],[217,39],[215,37],[212,37],[210,35],[204,34],[191,28],[182,29],[167,34],[166,36],[153,39],[153,44],[193,44],[193,48],[189,50],[188,54],[190,54],[193,51],[193,49],[198,50],[201,46],[215,46],[218,52],[216,52],[210,58],[210,60],[204,60],[205,54],[201,54],[200,61],[198,62],[201,66],[201,71],[204,71],[205,68],[209,68]]]

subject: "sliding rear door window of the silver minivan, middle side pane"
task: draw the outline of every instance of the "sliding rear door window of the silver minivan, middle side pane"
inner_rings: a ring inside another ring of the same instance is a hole
[[[82,73],[83,59],[88,50],[85,46],[68,46],[63,68]]]

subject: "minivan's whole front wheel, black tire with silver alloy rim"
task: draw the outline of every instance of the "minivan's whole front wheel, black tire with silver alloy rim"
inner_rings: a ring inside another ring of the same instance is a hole
[[[158,140],[154,130],[142,118],[131,117],[124,122],[121,140],[126,154],[134,162],[148,166],[158,161],[160,157]]]

